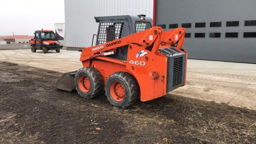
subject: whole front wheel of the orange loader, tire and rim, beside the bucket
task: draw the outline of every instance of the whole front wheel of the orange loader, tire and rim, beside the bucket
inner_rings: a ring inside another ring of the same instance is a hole
[[[75,86],[80,96],[93,99],[102,94],[103,79],[96,68],[84,67],[76,73]]]

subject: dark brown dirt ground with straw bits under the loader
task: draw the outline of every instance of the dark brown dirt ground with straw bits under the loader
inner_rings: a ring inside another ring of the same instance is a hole
[[[256,111],[168,94],[126,110],[56,90],[61,73],[0,61],[0,143],[256,142]]]

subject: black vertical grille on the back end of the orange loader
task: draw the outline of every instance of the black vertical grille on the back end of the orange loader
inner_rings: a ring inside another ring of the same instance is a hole
[[[183,64],[182,57],[174,58],[172,86],[175,86],[182,82],[182,72],[183,72],[182,64]]]

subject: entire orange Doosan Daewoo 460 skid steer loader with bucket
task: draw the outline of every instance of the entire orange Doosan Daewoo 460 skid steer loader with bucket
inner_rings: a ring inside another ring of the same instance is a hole
[[[93,99],[106,92],[109,102],[128,108],[186,84],[185,29],[163,32],[145,15],[95,17],[96,46],[83,48],[83,68],[63,74],[57,88],[76,89]]]

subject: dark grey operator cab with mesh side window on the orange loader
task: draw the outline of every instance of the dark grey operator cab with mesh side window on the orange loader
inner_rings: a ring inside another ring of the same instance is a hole
[[[94,36],[97,36],[96,45],[141,32],[152,28],[153,25],[152,18],[148,18],[146,15],[101,16],[94,18],[99,23],[98,34],[94,34]]]

